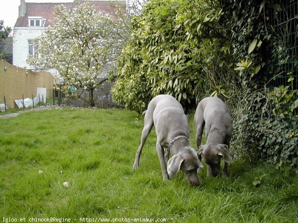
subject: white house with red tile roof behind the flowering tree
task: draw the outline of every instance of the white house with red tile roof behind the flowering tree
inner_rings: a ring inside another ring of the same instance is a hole
[[[27,67],[28,69],[33,68],[26,62],[30,54],[36,54],[32,42],[50,24],[53,25],[55,23],[54,10],[56,6],[63,4],[72,10],[76,4],[86,1],[96,6],[98,10],[115,15],[109,7],[109,1],[107,0],[74,0],[74,2],[65,3],[32,3],[20,0],[19,16],[14,25],[13,65]],[[121,2],[125,3],[125,1]]]

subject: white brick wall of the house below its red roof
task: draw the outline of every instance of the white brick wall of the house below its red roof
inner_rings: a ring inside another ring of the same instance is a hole
[[[28,40],[35,40],[42,34],[44,28],[15,28],[13,35],[13,65],[19,67],[27,67],[31,69],[29,64],[26,62],[29,49]]]

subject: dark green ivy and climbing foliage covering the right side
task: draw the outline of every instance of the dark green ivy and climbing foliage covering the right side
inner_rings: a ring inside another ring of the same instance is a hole
[[[289,76],[288,86],[273,88],[272,76],[278,76],[280,70],[272,70],[269,66],[272,58],[278,55],[280,45],[284,45],[283,36],[272,38],[276,30],[270,24],[271,19],[275,18],[270,15],[276,14],[277,8],[282,6],[279,1],[274,3],[265,0],[231,0],[228,4],[224,3],[226,11],[230,9],[231,19],[226,21],[234,34],[231,35],[230,44],[233,57],[242,60],[235,68],[239,70],[244,97],[236,105],[241,106],[242,110],[241,115],[235,118],[234,138],[237,146],[255,157],[272,160],[277,167],[283,164],[297,167],[295,109],[298,106],[298,91],[294,87],[295,79]],[[286,31],[283,34],[288,35]],[[275,57],[276,64],[283,64],[285,57]],[[297,72],[297,65],[292,69]]]

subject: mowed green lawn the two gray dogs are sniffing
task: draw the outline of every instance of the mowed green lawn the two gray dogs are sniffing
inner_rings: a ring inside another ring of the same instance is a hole
[[[0,221],[298,222],[298,177],[289,170],[233,160],[224,180],[207,178],[203,162],[201,186],[189,186],[181,171],[164,182],[154,128],[133,169],[143,124],[125,110],[30,111],[0,119]],[[190,126],[195,148],[191,117]]]

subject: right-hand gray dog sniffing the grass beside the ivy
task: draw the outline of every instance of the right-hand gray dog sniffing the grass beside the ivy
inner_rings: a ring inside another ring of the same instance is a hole
[[[227,165],[232,162],[229,153],[229,142],[232,137],[229,109],[219,98],[204,98],[197,107],[195,125],[198,153],[200,158],[203,154],[208,164],[207,175],[217,176],[219,174],[221,159],[224,157],[223,176],[227,176]],[[206,145],[201,145],[204,125],[206,126]]]

